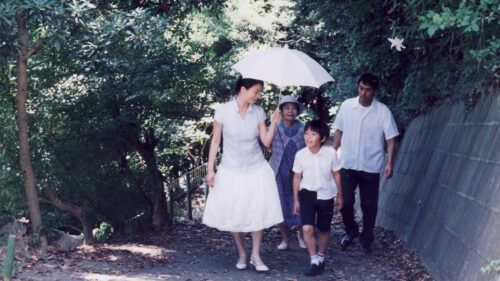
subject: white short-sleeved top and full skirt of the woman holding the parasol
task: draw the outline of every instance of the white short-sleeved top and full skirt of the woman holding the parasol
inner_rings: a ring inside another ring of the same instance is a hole
[[[274,172],[257,140],[264,110],[250,104],[242,119],[233,99],[215,110],[214,119],[222,124],[223,154],[203,223],[222,231],[251,232],[282,222]]]

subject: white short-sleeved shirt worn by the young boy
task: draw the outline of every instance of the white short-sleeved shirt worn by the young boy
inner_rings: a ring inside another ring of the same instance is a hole
[[[332,171],[342,168],[336,151],[331,146],[321,146],[313,154],[306,146],[295,155],[293,172],[302,173],[300,189],[318,192],[318,199],[328,200],[337,195],[338,189]]]

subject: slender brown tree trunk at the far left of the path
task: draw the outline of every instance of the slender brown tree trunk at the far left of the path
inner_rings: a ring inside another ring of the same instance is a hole
[[[19,164],[24,176],[24,189],[26,192],[26,200],[30,212],[31,227],[33,233],[39,233],[42,225],[42,216],[40,206],[38,204],[38,196],[36,192],[35,173],[31,165],[30,146],[28,137],[28,116],[26,113],[26,99],[28,96],[28,80],[27,68],[28,58],[34,52],[28,53],[29,34],[26,29],[26,23],[22,12],[16,14],[17,25],[19,28],[19,55],[17,58],[17,95],[16,95],[16,124],[19,135]],[[41,44],[41,42],[40,42]],[[39,44],[38,44],[39,46]],[[35,46],[37,47],[37,46]],[[47,249],[47,236],[44,231],[40,231],[40,241],[42,252]]]

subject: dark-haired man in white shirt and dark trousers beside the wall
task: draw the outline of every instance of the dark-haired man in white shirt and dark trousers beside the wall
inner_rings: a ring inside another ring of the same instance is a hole
[[[346,235],[342,250],[347,249],[359,236],[366,253],[371,253],[373,228],[378,209],[380,172],[384,164],[384,140],[387,142],[388,161],[384,177],[392,177],[395,137],[399,135],[394,117],[386,105],[373,98],[378,78],[373,74],[361,75],[358,97],[345,100],[335,118],[334,149],[342,146],[343,208],[341,210]],[[354,194],[359,185],[363,231],[359,234],[354,221]]]

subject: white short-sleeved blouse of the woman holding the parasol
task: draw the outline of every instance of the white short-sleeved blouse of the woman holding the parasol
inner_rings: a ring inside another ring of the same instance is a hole
[[[243,119],[236,99],[233,99],[217,107],[214,119],[222,124],[221,165],[224,168],[246,172],[266,161],[257,140],[259,124],[266,120],[262,107],[249,104]]]

